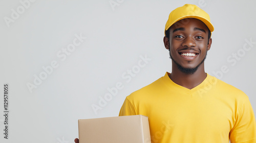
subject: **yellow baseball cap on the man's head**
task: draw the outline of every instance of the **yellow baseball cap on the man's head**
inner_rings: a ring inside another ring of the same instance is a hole
[[[178,7],[169,14],[169,18],[165,24],[165,30],[168,30],[175,22],[185,18],[196,18],[205,23],[210,32],[214,31],[214,26],[210,22],[210,16],[204,10],[200,9],[196,5],[185,4],[182,7]],[[165,33],[164,33],[165,35]]]

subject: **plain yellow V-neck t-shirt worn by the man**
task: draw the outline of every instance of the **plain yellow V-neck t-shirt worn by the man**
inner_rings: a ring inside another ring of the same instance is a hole
[[[152,142],[256,142],[255,117],[244,92],[208,74],[193,89],[168,75],[127,96],[119,116],[148,116]]]

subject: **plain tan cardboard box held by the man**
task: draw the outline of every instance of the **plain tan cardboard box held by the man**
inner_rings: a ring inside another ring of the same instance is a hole
[[[149,143],[148,118],[143,115],[78,120],[79,143]]]

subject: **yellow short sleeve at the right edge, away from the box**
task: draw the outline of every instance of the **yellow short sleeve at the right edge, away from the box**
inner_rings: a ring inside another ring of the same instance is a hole
[[[256,143],[256,121],[248,97],[239,107],[236,123],[230,131],[231,143]]]

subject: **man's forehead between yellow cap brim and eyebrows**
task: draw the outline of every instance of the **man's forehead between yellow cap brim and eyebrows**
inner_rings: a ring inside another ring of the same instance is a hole
[[[196,18],[181,19],[181,20],[175,22],[170,27],[170,29],[171,30],[174,30],[177,28],[185,28],[186,29],[186,28],[190,28],[190,27],[204,29],[205,31],[207,31],[207,29],[208,29],[204,22],[202,22],[201,20],[196,19]]]

